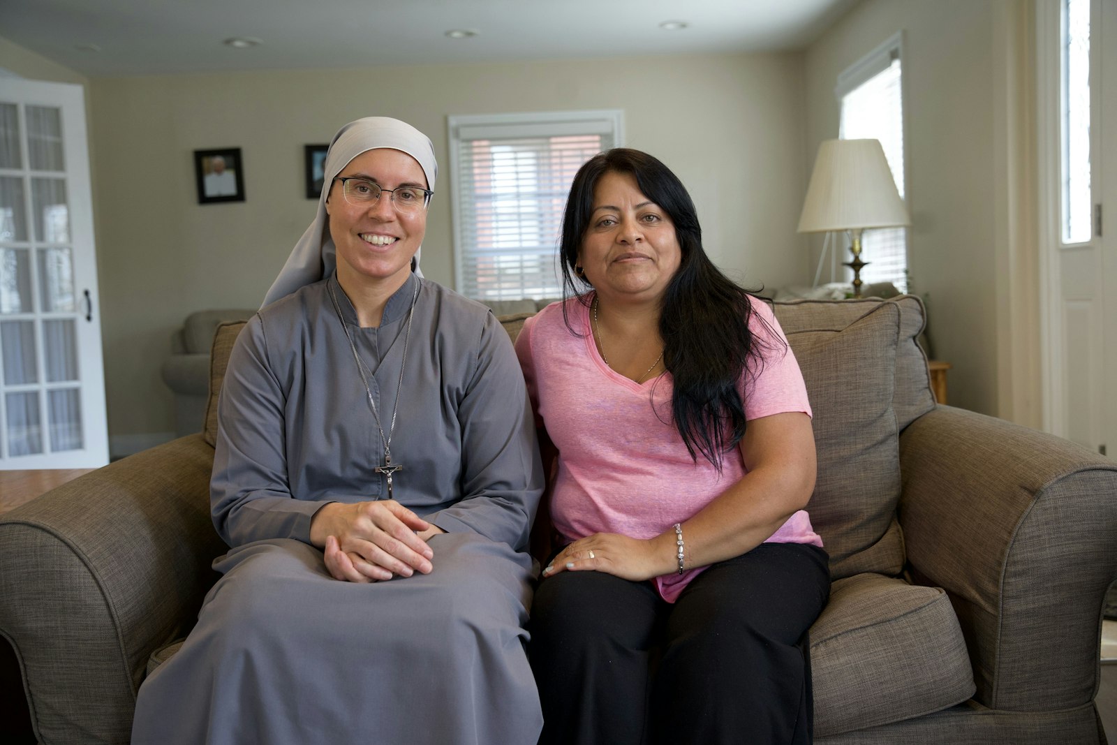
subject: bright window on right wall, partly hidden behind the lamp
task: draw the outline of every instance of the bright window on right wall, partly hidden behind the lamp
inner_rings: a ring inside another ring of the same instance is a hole
[[[904,181],[904,87],[900,75],[900,36],[875,49],[838,77],[843,140],[879,140],[896,189],[906,200]],[[909,208],[910,211],[910,208]],[[907,228],[866,230],[861,238],[861,269],[866,284],[890,281],[907,292]]]

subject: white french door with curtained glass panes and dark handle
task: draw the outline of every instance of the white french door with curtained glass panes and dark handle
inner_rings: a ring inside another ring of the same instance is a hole
[[[106,462],[83,90],[0,78],[0,469]]]

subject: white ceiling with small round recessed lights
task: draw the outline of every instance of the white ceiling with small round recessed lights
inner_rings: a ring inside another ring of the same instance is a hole
[[[94,77],[633,57],[800,49],[859,1],[0,0],[0,37]]]

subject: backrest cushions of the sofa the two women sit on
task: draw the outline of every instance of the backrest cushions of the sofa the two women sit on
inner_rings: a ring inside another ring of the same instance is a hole
[[[531,313],[502,316],[515,341]],[[915,340],[923,304],[889,300],[776,303],[814,410],[819,475],[808,509],[830,553],[834,579],[860,572],[898,574],[904,542],[899,500],[899,432],[930,411],[927,361]],[[213,338],[206,441],[217,441],[217,399],[229,354],[245,322],[222,324]]]

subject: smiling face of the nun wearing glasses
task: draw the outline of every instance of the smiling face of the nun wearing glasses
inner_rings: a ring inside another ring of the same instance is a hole
[[[338,179],[360,178],[382,189],[427,188],[419,162],[399,150],[369,150],[345,165]],[[341,181],[334,181],[326,199],[330,235],[337,248],[337,278],[343,287],[370,285],[394,292],[411,271],[411,257],[427,231],[427,208],[416,212],[395,209],[392,194],[383,192],[374,202],[350,203]]]

